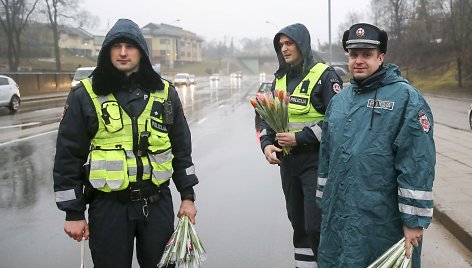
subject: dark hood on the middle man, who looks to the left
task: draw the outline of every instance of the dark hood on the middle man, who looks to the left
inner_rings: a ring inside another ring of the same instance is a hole
[[[308,32],[308,29],[305,27],[305,25],[301,23],[295,23],[280,30],[274,37],[274,48],[275,52],[277,53],[277,59],[279,60],[279,69],[275,73],[275,76],[281,77],[290,69],[290,65],[285,63],[282,51],[280,49],[279,40],[281,34],[286,35],[292,39],[300,49],[303,55],[303,72],[311,69],[315,60],[313,59],[313,53],[311,51],[310,32]]]

